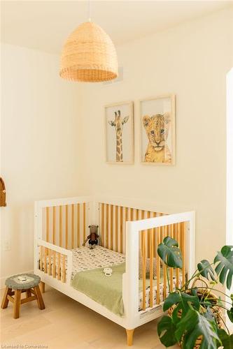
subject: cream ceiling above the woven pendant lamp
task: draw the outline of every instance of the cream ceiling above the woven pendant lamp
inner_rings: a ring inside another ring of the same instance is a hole
[[[115,45],[232,5],[232,1],[91,1],[91,17]],[[59,53],[88,20],[87,1],[1,1],[1,41]]]

